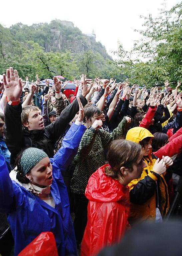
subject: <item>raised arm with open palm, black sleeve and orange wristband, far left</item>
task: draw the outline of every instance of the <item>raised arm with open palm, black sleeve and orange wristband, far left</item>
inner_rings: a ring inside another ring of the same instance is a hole
[[[7,96],[5,108],[4,140],[11,152],[11,161],[25,147],[25,138],[22,129],[20,96],[22,93],[21,79],[17,70],[12,67],[3,74],[4,90]]]

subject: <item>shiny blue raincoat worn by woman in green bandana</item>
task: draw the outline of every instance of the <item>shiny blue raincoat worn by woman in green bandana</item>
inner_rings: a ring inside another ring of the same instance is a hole
[[[0,211],[9,214],[8,221],[15,240],[14,255],[45,231],[54,234],[59,255],[77,255],[68,193],[61,172],[76,155],[85,130],[85,126],[73,124],[62,141],[62,147],[50,159],[53,167],[50,192],[55,208],[12,181],[5,160],[0,156]]]

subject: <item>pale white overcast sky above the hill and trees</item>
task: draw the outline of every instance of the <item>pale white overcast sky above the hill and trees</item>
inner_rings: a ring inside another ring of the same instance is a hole
[[[117,50],[118,41],[129,50],[140,35],[134,29],[141,29],[140,15],[159,14],[162,3],[170,9],[180,0],[9,0],[1,1],[0,23],[6,27],[21,22],[50,22],[57,18],[72,21],[83,33],[94,29],[96,41],[105,45],[107,52]]]

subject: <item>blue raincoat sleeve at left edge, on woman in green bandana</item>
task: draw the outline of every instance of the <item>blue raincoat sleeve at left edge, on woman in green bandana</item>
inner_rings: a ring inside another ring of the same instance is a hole
[[[14,203],[14,191],[12,181],[5,158],[0,155],[0,212],[10,213]]]

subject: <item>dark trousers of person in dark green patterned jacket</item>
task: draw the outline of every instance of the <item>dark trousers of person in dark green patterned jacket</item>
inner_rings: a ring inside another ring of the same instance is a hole
[[[74,213],[73,222],[77,245],[81,243],[87,225],[87,206],[88,199],[83,194],[74,194]]]

